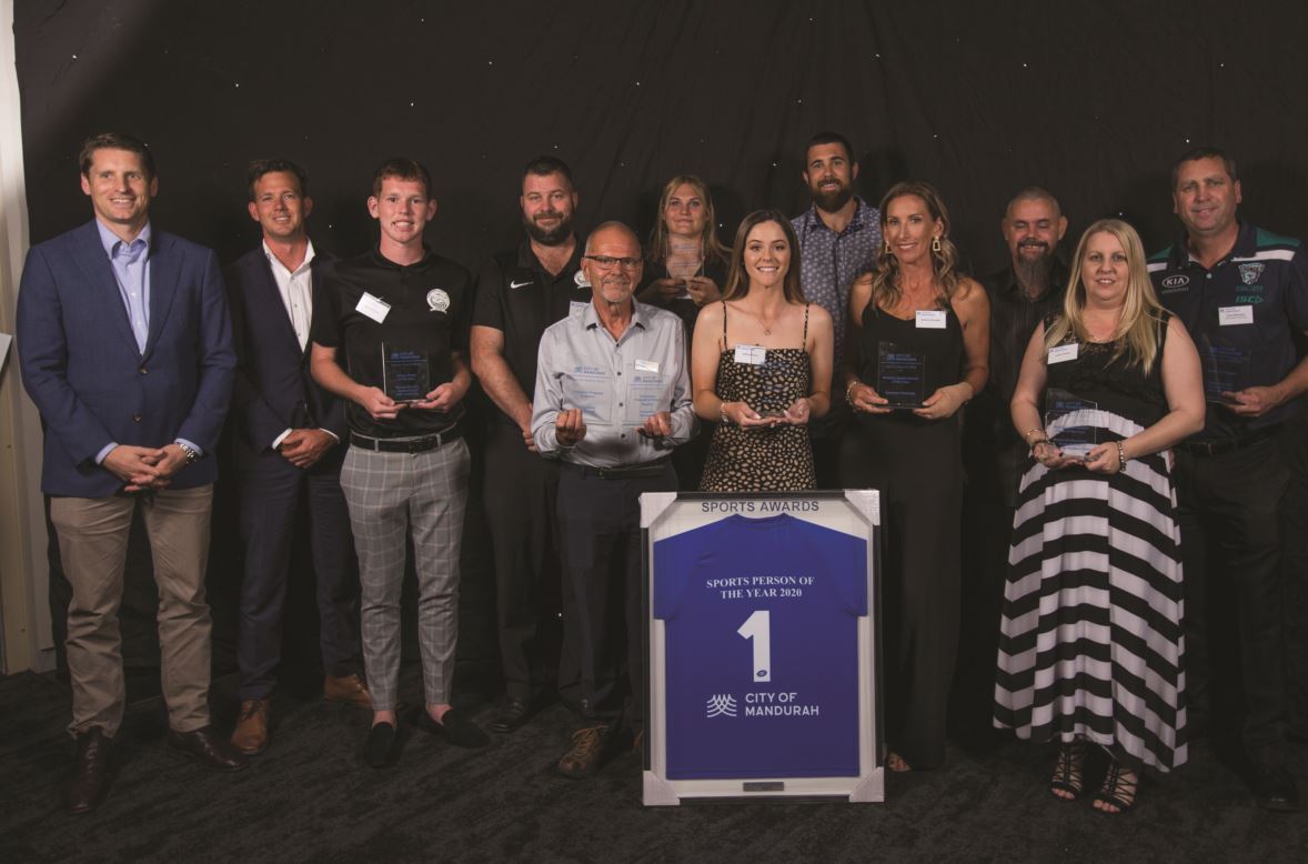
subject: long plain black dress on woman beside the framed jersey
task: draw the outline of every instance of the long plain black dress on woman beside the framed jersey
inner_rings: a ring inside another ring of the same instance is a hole
[[[870,302],[858,334],[859,378],[876,386],[878,347],[926,355],[923,397],[957,384],[963,326],[918,327]],[[946,711],[959,644],[963,457],[959,415],[855,414],[841,442],[846,488],[882,494],[882,651],[887,742],[913,768],[944,763]]]

